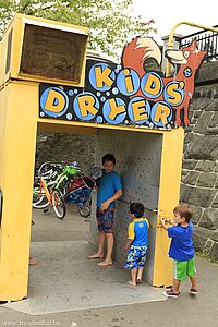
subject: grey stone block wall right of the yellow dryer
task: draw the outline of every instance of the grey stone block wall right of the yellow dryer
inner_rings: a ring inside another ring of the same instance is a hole
[[[213,73],[214,72],[214,73]],[[218,259],[218,63],[199,71],[185,131],[180,201],[194,211],[195,250]]]

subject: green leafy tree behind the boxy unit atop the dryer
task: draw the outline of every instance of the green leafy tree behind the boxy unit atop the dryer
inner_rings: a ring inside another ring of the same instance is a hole
[[[149,23],[132,19],[132,0],[0,0],[0,37],[15,12],[85,26],[88,48],[112,57],[126,40],[149,33]]]

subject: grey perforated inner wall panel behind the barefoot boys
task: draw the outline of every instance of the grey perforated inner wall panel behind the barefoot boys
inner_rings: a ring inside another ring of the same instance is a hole
[[[159,174],[161,158],[161,134],[130,131],[99,131],[96,145],[96,165],[101,165],[101,157],[113,154],[117,159],[114,170],[120,173],[123,195],[117,202],[114,218],[114,259],[122,264],[126,258],[124,250],[128,239],[128,226],[131,222],[129,207],[131,202],[142,202],[148,209],[157,209],[159,194]],[[95,203],[95,201],[94,201]],[[95,205],[95,204],[94,204]],[[149,253],[145,267],[145,279],[152,283],[157,215],[145,210],[150,223]],[[95,216],[95,209],[93,208]],[[97,244],[97,227],[93,217],[90,242]]]

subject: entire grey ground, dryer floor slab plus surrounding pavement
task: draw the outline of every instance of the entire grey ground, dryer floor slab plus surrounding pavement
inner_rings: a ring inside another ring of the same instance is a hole
[[[114,264],[87,261],[88,222],[70,209],[64,220],[34,213],[27,300],[0,306],[0,326],[218,326],[218,265],[197,258],[198,294],[184,281],[179,299],[147,284],[131,288]]]

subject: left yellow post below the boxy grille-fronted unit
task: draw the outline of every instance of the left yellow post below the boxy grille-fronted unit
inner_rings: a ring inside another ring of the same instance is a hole
[[[0,300],[27,295],[38,87],[8,83],[1,97]]]

